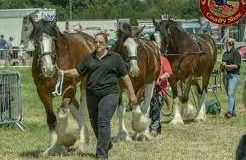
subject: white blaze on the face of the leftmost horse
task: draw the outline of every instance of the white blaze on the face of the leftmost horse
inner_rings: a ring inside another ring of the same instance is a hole
[[[41,63],[42,63],[42,72],[45,77],[52,77],[54,73],[54,65],[52,62],[51,55],[53,38],[47,34],[43,34],[41,44]]]

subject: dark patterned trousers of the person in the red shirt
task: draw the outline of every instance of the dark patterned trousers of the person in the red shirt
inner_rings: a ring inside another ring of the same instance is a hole
[[[161,122],[160,122],[160,112],[164,102],[163,95],[154,93],[150,101],[150,132],[160,133],[161,132]]]

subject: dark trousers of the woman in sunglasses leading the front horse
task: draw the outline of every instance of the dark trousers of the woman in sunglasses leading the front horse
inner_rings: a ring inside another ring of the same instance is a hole
[[[109,145],[111,143],[110,121],[119,102],[119,94],[96,96],[86,93],[88,112],[91,126],[97,137],[96,157],[108,158]]]

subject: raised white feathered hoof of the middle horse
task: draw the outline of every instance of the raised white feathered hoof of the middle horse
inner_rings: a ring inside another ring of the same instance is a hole
[[[141,112],[140,106],[133,110],[131,124],[132,129],[137,133],[142,133],[149,127],[150,119],[148,115]]]

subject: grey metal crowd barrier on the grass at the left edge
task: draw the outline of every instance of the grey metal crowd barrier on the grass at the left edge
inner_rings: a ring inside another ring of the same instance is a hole
[[[17,72],[0,73],[0,124],[16,124],[24,130],[22,119],[21,79]]]

